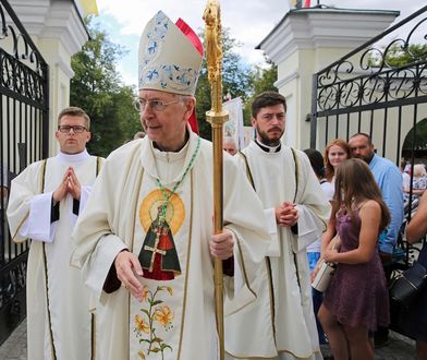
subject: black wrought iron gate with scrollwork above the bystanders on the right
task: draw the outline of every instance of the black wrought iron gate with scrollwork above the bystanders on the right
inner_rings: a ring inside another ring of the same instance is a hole
[[[315,148],[365,132],[398,166],[427,164],[427,7],[314,75],[310,128]]]

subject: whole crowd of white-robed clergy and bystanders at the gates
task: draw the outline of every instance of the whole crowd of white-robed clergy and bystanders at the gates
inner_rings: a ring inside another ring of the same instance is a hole
[[[32,239],[28,359],[218,359],[215,257],[227,359],[322,359],[320,344],[337,360],[374,359],[387,337],[399,168],[365,133],[333,140],[324,156],[285,145],[285,98],[264,92],[252,104],[256,137],[241,152],[223,142],[224,227],[213,233],[212,145],[188,124],[202,61],[190,26],[158,12],[139,45],[144,132],[97,158],[89,117],[66,108],[58,155],[12,181],[13,240]],[[425,197],[408,241],[427,230]],[[338,264],[325,293],[310,286],[321,261]],[[411,333],[418,359],[426,303],[411,313],[424,314]]]

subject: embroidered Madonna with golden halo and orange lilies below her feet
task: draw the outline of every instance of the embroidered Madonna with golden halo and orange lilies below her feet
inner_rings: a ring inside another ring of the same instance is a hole
[[[168,196],[167,202],[164,194]],[[144,278],[170,281],[181,275],[174,236],[184,219],[184,202],[170,190],[156,189],[144,197],[139,205],[139,223],[146,236],[138,256]],[[163,359],[167,352],[173,352],[174,347],[164,337],[164,333],[175,329],[173,286],[152,285],[144,285],[138,310],[133,315],[139,359],[155,353]]]

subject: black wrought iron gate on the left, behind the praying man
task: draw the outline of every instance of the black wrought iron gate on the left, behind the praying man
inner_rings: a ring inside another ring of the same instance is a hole
[[[48,156],[48,64],[7,0],[0,0],[0,344],[25,317],[28,244],[12,242],[10,182]]]

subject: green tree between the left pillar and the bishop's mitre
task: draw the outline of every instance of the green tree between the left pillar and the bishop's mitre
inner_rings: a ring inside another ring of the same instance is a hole
[[[83,108],[90,117],[93,139],[88,152],[108,156],[141,130],[132,101],[134,89],[121,85],[115,70],[124,50],[112,44],[106,33],[86,20],[90,39],[71,59],[74,77],[70,84],[70,105]]]

